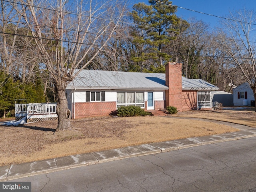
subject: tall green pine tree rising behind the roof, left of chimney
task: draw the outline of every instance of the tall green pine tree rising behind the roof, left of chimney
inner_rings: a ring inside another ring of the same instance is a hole
[[[162,3],[149,0],[150,5],[138,3],[133,6],[130,16],[135,23],[131,32],[134,39],[132,60],[135,71],[162,68],[170,60],[166,45],[174,37],[168,34],[168,30],[177,31],[175,26],[182,21],[174,14],[176,7],[171,6],[171,3],[168,0],[162,0]]]

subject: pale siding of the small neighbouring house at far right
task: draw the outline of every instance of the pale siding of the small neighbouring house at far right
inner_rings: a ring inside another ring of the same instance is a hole
[[[251,101],[254,101],[254,94],[248,83],[243,83],[233,89],[234,106],[243,106],[245,98],[238,99],[238,92],[247,92],[247,105],[250,106]]]

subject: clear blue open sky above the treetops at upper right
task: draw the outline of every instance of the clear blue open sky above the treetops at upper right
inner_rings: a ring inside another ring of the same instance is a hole
[[[225,17],[229,14],[229,11],[240,10],[246,8],[248,10],[256,9],[256,0],[171,0],[172,5],[191,9],[207,14]],[[148,4],[148,0],[130,0],[132,4],[144,2]],[[210,27],[218,26],[220,18],[214,16],[208,16],[206,14],[200,14],[190,10],[177,8],[176,15],[182,19],[187,20],[190,17],[195,17],[197,20],[202,20]]]

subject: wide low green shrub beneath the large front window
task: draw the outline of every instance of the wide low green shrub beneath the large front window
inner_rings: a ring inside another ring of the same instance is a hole
[[[151,115],[150,112],[144,111],[139,106],[121,106],[117,109],[119,117],[146,116]]]

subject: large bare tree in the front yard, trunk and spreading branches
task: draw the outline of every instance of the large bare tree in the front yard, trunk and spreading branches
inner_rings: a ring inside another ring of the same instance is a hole
[[[37,55],[53,81],[57,131],[71,129],[66,87],[104,50],[122,21],[126,4],[119,0],[20,0],[18,6],[13,5],[30,29]],[[99,44],[102,36],[105,42]]]

